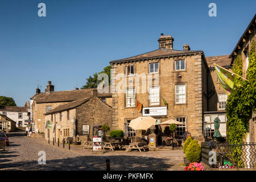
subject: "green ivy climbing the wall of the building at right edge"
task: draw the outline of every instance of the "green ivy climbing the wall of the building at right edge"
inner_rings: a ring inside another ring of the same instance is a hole
[[[240,56],[234,65],[234,71],[241,74]],[[256,60],[255,60],[255,43],[251,40],[249,54],[249,67],[246,72],[248,81],[241,81],[241,86],[232,90],[226,104],[227,140],[229,143],[242,143],[249,129],[249,119],[255,109],[256,101]],[[232,158],[235,165],[242,166],[241,160],[242,149],[236,148],[232,151]]]

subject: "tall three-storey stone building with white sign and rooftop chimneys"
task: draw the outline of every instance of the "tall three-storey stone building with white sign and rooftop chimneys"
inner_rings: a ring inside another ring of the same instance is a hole
[[[174,38],[161,34],[159,49],[138,56],[110,61],[112,65],[113,129],[135,135],[131,119],[151,115],[158,122],[176,119],[192,136],[203,134],[203,114],[208,111],[208,65],[203,51],[173,49]],[[122,86],[120,86],[122,85]],[[136,101],[143,105],[142,113]],[[164,104],[164,101],[168,105]]]

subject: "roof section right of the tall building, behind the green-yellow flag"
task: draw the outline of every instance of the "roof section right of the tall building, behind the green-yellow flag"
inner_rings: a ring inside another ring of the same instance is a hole
[[[210,56],[205,58],[207,60],[208,67],[214,67],[213,63],[216,63],[221,67],[231,67],[231,59],[229,58],[229,55]]]

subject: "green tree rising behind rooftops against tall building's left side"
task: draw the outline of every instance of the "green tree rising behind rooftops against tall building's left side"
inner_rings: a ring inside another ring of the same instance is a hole
[[[98,84],[100,84],[100,82],[102,81],[102,80],[98,80],[98,75],[100,75],[100,73],[106,73],[106,75],[108,75],[109,85],[110,85],[110,69],[111,69],[111,65],[105,67],[103,69],[103,71],[101,71],[99,73],[94,73],[93,77],[89,76],[88,78],[86,78],[87,82],[84,86],[82,86],[81,89],[95,89],[95,88],[97,88]]]

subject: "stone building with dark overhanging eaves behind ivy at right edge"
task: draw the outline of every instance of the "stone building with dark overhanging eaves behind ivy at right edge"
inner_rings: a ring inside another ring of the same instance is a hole
[[[230,54],[231,64],[233,65],[237,55],[242,56],[243,77],[246,78],[246,71],[249,66],[249,53],[251,48],[251,40],[256,43],[256,14],[243,32],[241,38],[238,40],[236,47],[234,47]],[[256,53],[255,53],[256,55]],[[255,113],[255,111],[253,111]],[[256,123],[253,117],[249,122],[249,135],[247,135],[246,142],[256,142]]]

